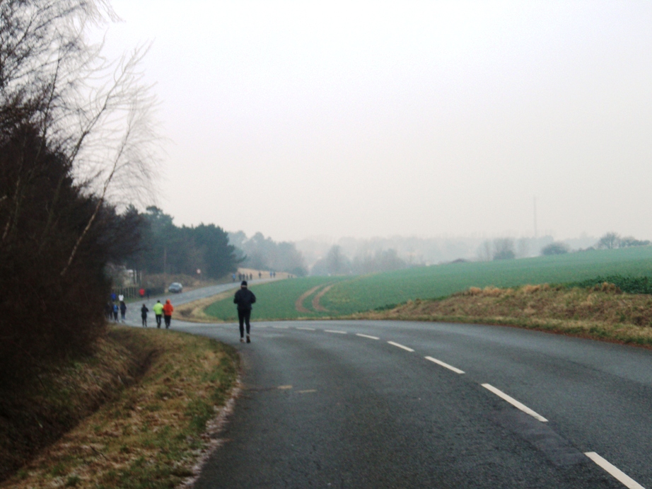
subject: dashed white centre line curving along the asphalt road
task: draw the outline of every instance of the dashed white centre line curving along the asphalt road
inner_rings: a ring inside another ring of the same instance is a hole
[[[314,291],[313,291],[314,293]],[[256,325],[256,328],[265,328],[266,326],[261,325],[258,326]],[[284,330],[300,330],[300,331],[309,331],[311,333],[339,333],[338,335],[341,336],[346,336],[347,338],[365,338],[366,340],[380,340],[380,337],[377,336],[372,336],[372,335],[366,335],[363,333],[352,333],[349,334],[349,331],[346,330],[332,330],[332,329],[320,329],[320,328],[308,328],[308,327],[296,327],[296,326],[272,326],[274,329],[284,329]],[[396,343],[392,340],[387,340],[386,342],[388,345],[392,345],[393,347],[397,347],[400,350],[404,350],[407,353],[413,353],[415,352],[414,349],[411,347],[408,347],[406,345],[402,345],[401,343]],[[383,343],[379,343],[382,345]],[[464,371],[461,369],[458,369],[458,367],[453,367],[453,365],[450,365],[446,362],[443,362],[440,359],[436,359],[430,356],[425,356],[422,357],[426,360],[428,360],[431,363],[438,364],[440,367],[443,367],[444,369],[447,369],[450,372],[455,372],[455,374],[465,374]],[[479,385],[482,386],[486,391],[489,391],[491,393],[494,393],[494,395],[498,396],[501,398],[503,401],[506,401],[510,405],[512,405],[514,408],[517,408],[518,410],[521,410],[523,413],[526,413],[530,415],[532,418],[539,422],[548,422],[546,418],[544,418],[542,415],[538,414],[535,412],[535,410],[532,410],[529,408],[527,405],[521,403],[520,401],[517,401],[515,398],[509,396],[507,393],[496,389],[496,387],[492,386],[491,384],[487,384],[486,382],[479,382]],[[581,452],[582,453],[582,452]],[[626,473],[621,471],[619,468],[616,466],[612,465],[609,461],[605,460],[600,456],[599,454],[595,453],[594,451],[586,451],[583,452],[583,454],[587,457],[587,459],[593,461],[596,465],[598,465],[600,468],[604,469],[607,473],[609,473],[611,476],[613,476],[617,481],[622,483],[624,487],[628,489],[645,489],[643,485],[637,483],[632,479],[631,477],[627,476]]]

